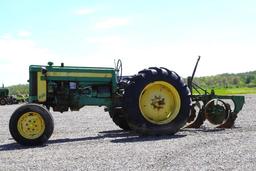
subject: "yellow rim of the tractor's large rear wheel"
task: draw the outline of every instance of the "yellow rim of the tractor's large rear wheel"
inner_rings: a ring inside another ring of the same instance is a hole
[[[179,113],[180,95],[175,87],[164,81],[148,84],[140,94],[139,107],[146,120],[154,124],[171,122]]]

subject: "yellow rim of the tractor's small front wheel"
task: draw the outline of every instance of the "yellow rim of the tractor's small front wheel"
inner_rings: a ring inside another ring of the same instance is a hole
[[[22,137],[36,139],[43,134],[45,122],[39,113],[27,112],[19,118],[17,127]]]

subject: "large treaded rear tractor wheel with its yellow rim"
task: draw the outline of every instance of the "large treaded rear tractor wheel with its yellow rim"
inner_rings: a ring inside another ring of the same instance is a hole
[[[133,76],[124,93],[128,125],[139,134],[175,134],[189,118],[190,92],[166,68],[149,68]]]

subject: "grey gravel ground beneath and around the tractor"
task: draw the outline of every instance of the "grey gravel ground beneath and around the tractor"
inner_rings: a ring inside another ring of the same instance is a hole
[[[120,130],[99,107],[53,113],[45,146],[25,148],[8,129],[18,107],[0,106],[0,170],[255,170],[256,95],[246,96],[233,129],[183,129],[139,137]]]

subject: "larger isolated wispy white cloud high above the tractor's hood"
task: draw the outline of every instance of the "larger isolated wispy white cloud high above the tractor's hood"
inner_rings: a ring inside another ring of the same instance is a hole
[[[97,29],[111,29],[114,27],[126,26],[129,24],[127,18],[108,18],[96,23]]]

